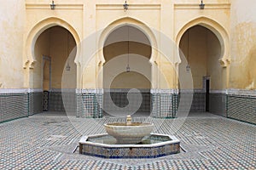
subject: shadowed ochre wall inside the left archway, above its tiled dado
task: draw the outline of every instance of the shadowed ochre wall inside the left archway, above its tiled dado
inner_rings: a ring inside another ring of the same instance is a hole
[[[62,74],[65,71],[68,55],[75,47],[73,36],[69,31],[60,27],[54,26],[44,31],[39,37],[35,45],[36,64],[33,74],[33,88],[42,88],[43,82],[43,56],[51,59],[51,88],[61,88]],[[76,71],[76,66],[71,59],[68,60],[71,71]],[[73,79],[76,74],[70,75]],[[66,87],[76,88],[76,83],[70,80]]]

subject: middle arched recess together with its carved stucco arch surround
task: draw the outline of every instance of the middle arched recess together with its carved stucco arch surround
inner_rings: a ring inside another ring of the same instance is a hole
[[[113,103],[120,108],[125,109],[127,105],[130,105],[131,108],[136,107],[135,105],[139,102],[133,105],[132,102],[127,102],[126,98],[131,88],[137,88],[140,90],[140,93],[132,94],[132,96],[135,97],[135,100],[139,99],[140,95],[143,98],[142,104],[135,112],[150,114],[150,89],[152,88],[151,80],[153,78],[151,77],[152,65],[155,65],[150,60],[154,60],[154,57],[157,55],[153,32],[141,22],[125,18],[113,22],[102,31],[101,35],[102,37],[100,37],[98,43],[101,50],[98,55],[98,66],[103,71],[102,77],[99,78],[102,78],[102,88],[105,89],[103,99],[104,111],[108,114],[119,111],[109,105],[110,99],[108,99],[108,96],[110,95]],[[129,65],[129,58],[131,71],[125,72],[125,68]],[[114,79],[112,79],[113,77]],[[108,86],[110,84],[111,86]],[[127,112],[125,111],[124,113]],[[133,111],[131,112],[134,113]],[[119,111],[119,113],[122,114],[123,112]]]

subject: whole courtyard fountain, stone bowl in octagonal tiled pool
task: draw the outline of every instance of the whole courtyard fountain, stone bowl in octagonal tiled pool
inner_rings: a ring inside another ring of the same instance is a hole
[[[155,158],[180,152],[180,141],[172,135],[152,133],[150,122],[111,122],[107,133],[83,136],[79,153],[102,158]]]

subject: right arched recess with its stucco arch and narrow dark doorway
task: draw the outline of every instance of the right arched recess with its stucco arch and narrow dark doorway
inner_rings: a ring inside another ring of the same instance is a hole
[[[190,111],[210,111],[224,116],[226,67],[230,64],[227,32],[216,21],[201,17],[183,26],[176,41],[187,59],[178,63],[178,77],[186,77],[188,72],[193,77],[193,91],[181,89],[185,94],[194,93]]]

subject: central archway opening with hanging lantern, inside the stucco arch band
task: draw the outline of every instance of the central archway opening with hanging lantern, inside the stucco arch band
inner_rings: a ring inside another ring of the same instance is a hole
[[[110,32],[103,48],[103,88],[105,94],[110,93],[112,101],[104,94],[105,114],[111,115],[111,112],[115,112],[114,108],[108,108],[109,102],[113,102],[119,108],[131,105],[127,93],[131,88],[137,88],[139,94],[132,94],[133,99],[139,99],[137,95],[141,94],[143,99],[134,116],[150,115],[151,55],[151,43],[137,27],[127,24]],[[142,68],[143,71],[139,71]]]

